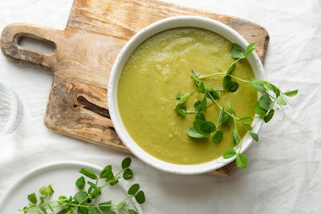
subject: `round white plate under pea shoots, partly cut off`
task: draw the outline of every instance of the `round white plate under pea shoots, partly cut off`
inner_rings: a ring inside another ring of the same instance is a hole
[[[27,172],[4,193],[0,200],[0,214],[23,214],[24,212],[18,211],[18,209],[23,209],[29,204],[27,199],[28,194],[34,192],[38,199],[40,196],[38,190],[50,184],[52,185],[54,193],[51,198],[47,199],[56,200],[59,196],[66,196],[67,198],[73,196],[78,191],[75,186],[76,180],[84,176],[79,172],[81,168],[90,169],[95,172],[97,176],[99,176],[99,172],[103,169],[97,165],[81,161],[61,161],[42,165]],[[113,172],[117,173],[118,171]],[[89,186],[87,181],[91,181],[91,179],[85,177],[85,181],[86,186],[84,190],[87,191]],[[98,203],[112,200],[113,204],[118,204],[128,197],[128,188],[122,181],[119,181],[119,183],[114,186],[108,185],[102,189],[102,195],[98,197],[98,199],[104,198],[101,199],[103,201],[98,201]],[[103,196],[103,194],[105,194],[105,196]],[[133,202],[136,202],[135,199],[133,199]],[[138,203],[135,203],[135,207],[139,214],[143,214],[143,210]],[[116,213],[126,213],[123,210],[117,211]]]

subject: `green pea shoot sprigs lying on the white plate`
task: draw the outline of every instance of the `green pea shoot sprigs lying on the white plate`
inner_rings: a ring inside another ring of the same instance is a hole
[[[112,204],[112,201],[105,201],[95,205],[96,199],[102,195],[102,189],[107,185],[116,185],[120,179],[130,180],[133,177],[133,172],[128,167],[131,164],[130,158],[125,158],[122,161],[122,170],[116,175],[112,172],[112,166],[107,165],[97,176],[92,170],[82,168],[79,172],[84,174],[89,184],[87,191],[84,190],[86,181],[82,176],[76,180],[75,185],[78,188],[78,192],[74,196],[66,197],[60,196],[57,200],[46,201],[45,199],[52,196],[54,190],[51,185],[48,187],[42,187],[39,189],[39,193],[42,195],[37,199],[35,193],[28,195],[29,205],[18,211],[36,212],[39,214],[67,214],[67,213],[81,213],[81,214],[116,214],[117,210],[124,210],[129,214],[138,214],[134,204],[131,202],[131,198],[135,198],[138,204],[145,202],[145,194],[139,184],[133,184],[127,191],[129,196],[119,204]],[[98,186],[98,180],[105,180],[102,186]],[[93,182],[92,182],[93,181]],[[55,212],[55,209],[59,211]]]

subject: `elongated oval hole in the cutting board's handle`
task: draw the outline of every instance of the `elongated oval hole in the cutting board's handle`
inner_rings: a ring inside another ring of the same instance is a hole
[[[19,46],[49,54],[52,54],[56,51],[55,45],[30,37],[21,38],[19,41]]]

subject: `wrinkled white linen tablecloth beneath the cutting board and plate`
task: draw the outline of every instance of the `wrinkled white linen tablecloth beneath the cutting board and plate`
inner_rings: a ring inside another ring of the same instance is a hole
[[[179,0],[192,8],[244,18],[267,29],[267,79],[298,89],[286,106],[286,122],[264,124],[260,140],[246,151],[246,169],[229,178],[156,170],[133,155],[66,137],[43,122],[52,72],[17,64],[0,54],[0,81],[22,99],[18,129],[0,139],[0,197],[25,172],[39,165],[79,160],[105,166],[132,158],[134,181],[144,187],[146,214],[321,213],[321,1]],[[63,30],[72,0],[1,0],[0,30],[30,23]],[[282,117],[282,114],[278,116]]]

